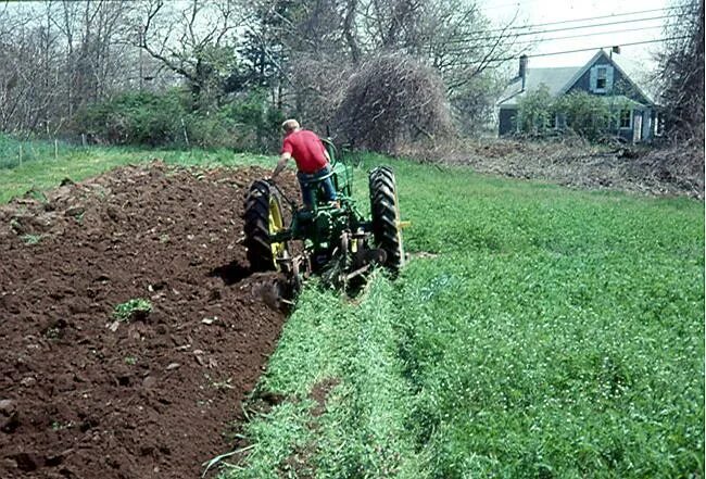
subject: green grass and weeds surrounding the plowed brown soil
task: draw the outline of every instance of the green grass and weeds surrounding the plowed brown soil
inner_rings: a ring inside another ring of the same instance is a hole
[[[2,201],[155,156],[274,164],[94,150],[0,171]],[[704,204],[393,166],[408,265],[307,285],[222,477],[703,478]]]

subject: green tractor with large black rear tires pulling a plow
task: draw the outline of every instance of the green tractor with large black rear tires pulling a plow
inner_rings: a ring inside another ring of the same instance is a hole
[[[312,274],[344,288],[374,264],[393,274],[404,264],[405,224],[400,218],[392,169],[380,166],[369,173],[371,218],[366,219],[352,198],[352,167],[337,161],[331,141],[324,140],[324,144],[331,157],[331,173],[312,181],[316,201],[311,209],[298,209],[276,184],[267,180],[253,181],[245,198],[244,244],[251,269],[279,270],[295,290]],[[329,176],[338,193],[336,203],[324,201],[319,188]],[[291,209],[289,225],[285,224],[282,199]],[[292,241],[301,241],[303,248],[290,249]]]

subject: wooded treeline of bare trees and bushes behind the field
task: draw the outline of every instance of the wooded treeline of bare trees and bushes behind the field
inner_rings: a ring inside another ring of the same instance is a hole
[[[666,51],[665,101],[675,118],[691,114],[677,112],[671,72],[685,74],[695,50],[703,124],[703,1],[693,5],[701,23],[675,28],[695,29],[696,47]],[[476,0],[5,2],[0,131],[265,150],[295,116],[393,152],[489,125],[506,79],[499,60],[519,51],[510,26]]]

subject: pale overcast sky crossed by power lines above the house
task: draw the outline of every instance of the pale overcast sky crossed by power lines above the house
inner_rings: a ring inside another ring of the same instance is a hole
[[[590,48],[592,50],[551,56],[530,58],[530,68],[532,66],[578,66],[588,62],[600,47],[612,45],[623,46],[626,43],[665,38],[663,27],[664,23],[669,20],[655,18],[644,22],[636,22],[635,20],[654,18],[673,14],[673,11],[657,10],[671,7],[671,2],[668,0],[481,0],[481,5],[486,15],[496,25],[507,24],[507,22],[512,21],[515,14],[517,14],[515,25],[518,26],[615,15],[615,17],[584,20],[582,22],[562,23],[532,28],[531,30],[558,31],[546,31],[543,34],[524,35],[519,37],[518,41],[522,42],[544,39],[543,41],[539,41],[535,46],[529,43],[522,45],[522,47],[528,48],[527,53],[530,56],[538,53],[553,53],[584,48]],[[634,12],[645,13],[623,15],[626,13]],[[626,23],[616,23],[623,21],[626,21]],[[595,26],[592,28],[573,28],[577,26],[607,23],[613,23],[613,25]],[[527,33],[531,30],[520,29],[517,31]],[[558,37],[575,38],[557,39]],[[646,68],[653,68],[655,63],[652,59],[652,53],[657,51],[659,46],[660,43],[645,43],[632,47],[621,47],[620,58],[621,60],[627,60],[633,63],[638,62]]]

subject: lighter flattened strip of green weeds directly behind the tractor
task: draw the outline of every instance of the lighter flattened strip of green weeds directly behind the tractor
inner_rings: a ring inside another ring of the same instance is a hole
[[[376,276],[363,301],[307,288],[255,396],[287,400],[245,425],[248,468],[234,477],[414,477],[409,404],[398,355],[392,285]],[[316,341],[312,341],[316,338]],[[316,399],[320,385],[329,385]]]

